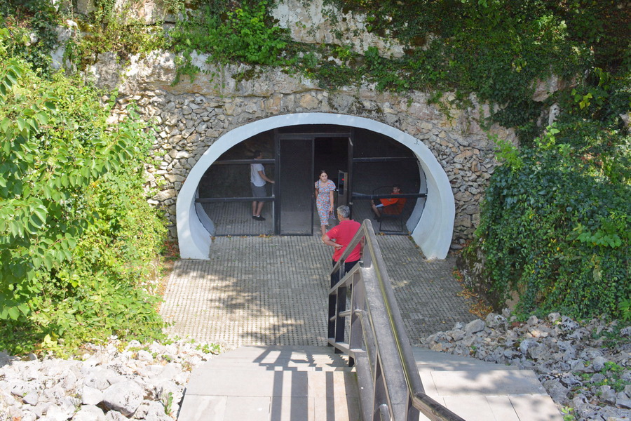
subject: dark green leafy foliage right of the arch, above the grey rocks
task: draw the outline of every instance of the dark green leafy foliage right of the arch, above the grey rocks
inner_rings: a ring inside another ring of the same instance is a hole
[[[594,69],[559,100],[547,133],[520,149],[498,141],[480,226],[465,256],[484,255],[497,307],[628,319],[631,137],[628,79]]]

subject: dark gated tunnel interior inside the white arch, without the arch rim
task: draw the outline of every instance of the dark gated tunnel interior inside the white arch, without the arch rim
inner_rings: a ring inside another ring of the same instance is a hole
[[[253,220],[251,214],[250,164],[256,150],[263,152],[257,162],[275,180],[266,184],[264,221]],[[320,170],[348,190],[352,218],[359,221],[372,218],[372,200],[362,195],[383,194],[393,184],[401,185],[404,193],[426,193],[425,175],[414,153],[396,140],[349,126],[287,126],[253,135],[212,163],[198,185],[198,216],[214,236],[312,235],[320,225],[314,197]],[[336,192],[336,206],[341,200]],[[425,200],[407,200],[403,218],[414,219],[407,225],[418,222]],[[407,234],[390,228],[386,225],[384,231]]]

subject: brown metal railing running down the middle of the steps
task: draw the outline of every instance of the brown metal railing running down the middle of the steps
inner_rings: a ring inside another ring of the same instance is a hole
[[[360,241],[362,260],[344,274],[344,261]],[[432,421],[464,421],[423,389],[370,220],[364,220],[332,274],[337,271],[339,281],[329,290],[328,342],[357,367],[363,420],[416,421],[422,413]]]

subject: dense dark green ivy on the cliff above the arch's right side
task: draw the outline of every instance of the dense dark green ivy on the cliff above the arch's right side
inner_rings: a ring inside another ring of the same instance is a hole
[[[585,21],[599,24],[611,18],[620,20],[612,13],[615,4],[611,2],[602,7],[589,1],[556,6],[542,0],[327,3],[346,12],[365,13],[369,31],[379,36],[390,34],[406,46],[402,59],[391,60],[390,72],[379,67],[368,72],[369,78],[379,81],[378,88],[461,91],[461,98],[476,93],[478,98],[501,106],[491,122],[516,128],[520,139],[526,141],[541,132],[536,121],[543,105],[530,99],[536,81],[552,74],[571,79],[593,60],[590,44],[577,39],[575,27],[569,27],[580,20],[574,11],[583,11]],[[569,24],[570,16],[576,20]],[[620,34],[611,37],[620,39]],[[611,54],[620,57],[624,51],[620,48]]]

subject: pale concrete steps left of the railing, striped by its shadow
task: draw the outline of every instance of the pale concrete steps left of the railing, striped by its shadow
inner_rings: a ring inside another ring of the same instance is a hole
[[[359,421],[357,377],[343,363],[327,347],[226,352],[191,374],[178,419]]]

